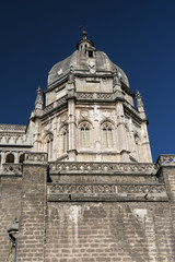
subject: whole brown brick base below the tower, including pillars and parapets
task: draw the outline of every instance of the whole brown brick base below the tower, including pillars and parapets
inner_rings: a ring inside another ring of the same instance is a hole
[[[16,262],[175,261],[174,156],[156,165],[68,162],[48,169],[47,154],[27,153],[22,166],[3,166],[0,189],[2,262],[14,218]]]

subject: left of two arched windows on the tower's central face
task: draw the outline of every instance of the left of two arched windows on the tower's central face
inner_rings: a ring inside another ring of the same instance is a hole
[[[80,124],[80,145],[81,147],[90,147],[90,123],[82,122]]]

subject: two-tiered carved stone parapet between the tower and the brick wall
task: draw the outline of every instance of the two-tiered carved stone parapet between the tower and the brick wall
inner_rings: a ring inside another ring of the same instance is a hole
[[[154,164],[49,163],[48,201],[167,201]]]

